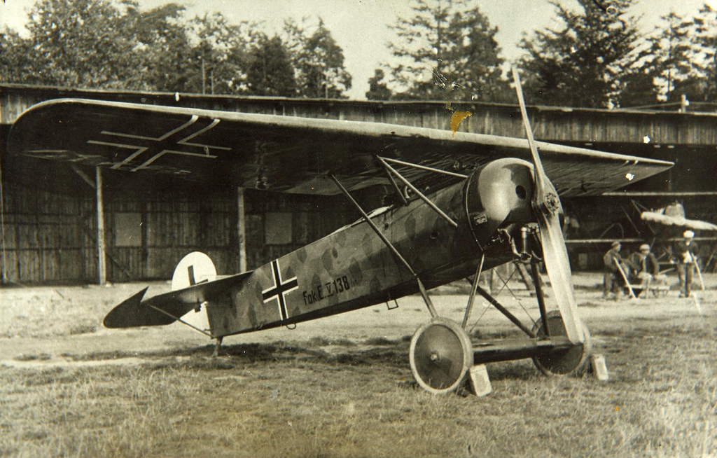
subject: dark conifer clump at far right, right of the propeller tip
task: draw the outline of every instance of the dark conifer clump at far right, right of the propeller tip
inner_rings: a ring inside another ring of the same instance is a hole
[[[521,41],[531,100],[596,108],[675,107],[683,95],[717,102],[717,13],[707,2],[689,19],[662,16],[649,32],[628,13],[632,0],[579,4],[581,11],[555,4],[561,27]]]

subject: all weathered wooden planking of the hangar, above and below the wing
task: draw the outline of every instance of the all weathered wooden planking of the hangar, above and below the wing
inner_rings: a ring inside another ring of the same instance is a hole
[[[86,97],[123,102],[151,103],[293,115],[308,118],[374,121],[445,129],[450,110],[442,102],[366,102],[305,100],[280,97],[231,97],[148,92],[62,90],[52,87],[0,85],[0,148],[7,129],[23,110],[57,97]],[[518,108],[500,104],[453,104],[473,113],[460,130],[523,138]],[[637,184],[632,190],[714,191],[717,159],[717,115],[712,113],[660,113],[530,107],[536,138],[605,151],[675,161],[671,171]],[[645,135],[650,143],[643,143]],[[660,145],[661,144],[661,145]],[[673,148],[674,146],[674,148]],[[661,148],[660,148],[661,147]],[[71,173],[70,173],[71,174]],[[43,186],[34,176],[35,186]],[[76,177],[75,177],[76,178]],[[33,181],[26,182],[32,184]],[[95,282],[95,202],[93,194],[51,194],[3,178],[5,199],[4,278],[28,283]],[[307,242],[328,234],[356,217],[341,198],[279,196],[246,191],[247,266],[251,269]],[[668,202],[662,199],[659,205]],[[595,199],[581,207],[566,202],[582,224],[582,237],[602,232],[605,221],[617,221],[617,201]],[[717,209],[705,201],[685,202],[688,212],[715,222]],[[221,273],[238,269],[235,192],[202,196],[171,191],[170,195],[105,195],[105,226],[110,259],[108,279],[113,282],[171,277],[176,262],[194,249],[209,254]],[[370,207],[370,206],[369,206]],[[581,209],[589,211],[581,211]],[[115,226],[123,214],[139,214],[139,246],[119,246]],[[267,214],[290,214],[291,240],[267,244]],[[350,216],[347,216],[350,215]],[[696,216],[696,215],[695,215]],[[694,217],[694,216],[693,216]]]

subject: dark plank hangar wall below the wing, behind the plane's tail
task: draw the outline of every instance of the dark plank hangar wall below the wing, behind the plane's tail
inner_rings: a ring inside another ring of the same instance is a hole
[[[57,194],[4,181],[2,278],[22,285],[97,282],[95,200],[89,187]],[[205,252],[217,272],[239,271],[237,194],[204,196],[176,192],[157,196],[105,194],[108,281],[171,279],[177,262],[192,251]],[[323,237],[348,221],[336,198],[282,196],[244,191],[247,267],[258,267]],[[266,214],[288,214],[290,243],[266,244]],[[141,239],[120,246],[118,222],[138,215]]]

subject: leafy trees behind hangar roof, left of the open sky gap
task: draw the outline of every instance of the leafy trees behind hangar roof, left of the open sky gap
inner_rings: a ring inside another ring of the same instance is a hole
[[[345,97],[351,75],[321,19],[287,19],[280,34],[186,19],[184,6],[141,11],[131,0],[40,0],[29,37],[0,34],[0,81],[80,88]]]

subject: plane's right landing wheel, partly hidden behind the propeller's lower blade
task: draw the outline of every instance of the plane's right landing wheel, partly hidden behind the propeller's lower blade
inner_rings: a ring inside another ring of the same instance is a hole
[[[551,310],[548,313],[548,324],[551,336],[564,336],[565,325],[558,310]],[[579,343],[564,350],[553,350],[541,356],[534,356],[533,363],[546,376],[566,376],[578,372],[592,353],[592,339],[587,327],[583,325],[585,332],[584,343]],[[533,326],[533,333],[538,337],[545,336],[542,318]]]

